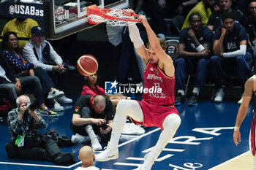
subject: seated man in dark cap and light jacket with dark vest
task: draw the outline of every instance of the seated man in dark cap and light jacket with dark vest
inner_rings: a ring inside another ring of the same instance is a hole
[[[53,78],[53,83],[60,90],[67,89],[67,66],[64,66],[61,57],[53,50],[50,43],[45,40],[45,31],[39,26],[31,29],[31,39],[24,45],[23,54],[34,68],[41,67]],[[72,103],[72,99],[62,96],[56,101],[64,104]]]

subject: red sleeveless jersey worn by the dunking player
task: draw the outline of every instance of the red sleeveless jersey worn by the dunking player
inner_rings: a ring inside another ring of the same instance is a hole
[[[174,88],[175,77],[168,77],[157,64],[148,62],[144,71],[143,99],[151,104],[173,105]]]

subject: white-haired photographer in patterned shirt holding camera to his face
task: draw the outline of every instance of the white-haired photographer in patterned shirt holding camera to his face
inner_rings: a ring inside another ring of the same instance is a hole
[[[46,123],[37,109],[31,108],[29,96],[19,96],[16,103],[17,108],[12,109],[7,117],[11,137],[5,146],[8,157],[58,164],[75,163],[75,155],[62,152],[55,140],[39,133],[39,128],[45,128]]]

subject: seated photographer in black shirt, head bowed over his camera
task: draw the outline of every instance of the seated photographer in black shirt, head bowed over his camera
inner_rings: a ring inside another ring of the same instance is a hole
[[[113,105],[109,98],[102,95],[80,96],[75,103],[72,117],[71,128],[75,134],[71,138],[72,143],[86,142],[86,136],[89,136],[93,150],[102,150],[96,134],[102,142],[108,142],[113,117]]]

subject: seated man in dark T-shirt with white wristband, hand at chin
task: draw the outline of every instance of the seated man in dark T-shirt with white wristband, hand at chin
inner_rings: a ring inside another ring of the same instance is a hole
[[[198,13],[189,16],[191,27],[184,28],[179,36],[178,56],[174,61],[176,67],[177,96],[175,105],[180,105],[185,99],[185,79],[187,73],[194,72],[194,89],[189,98],[190,106],[197,105],[200,88],[206,80],[208,58],[212,47],[212,31],[202,26],[202,19]]]

